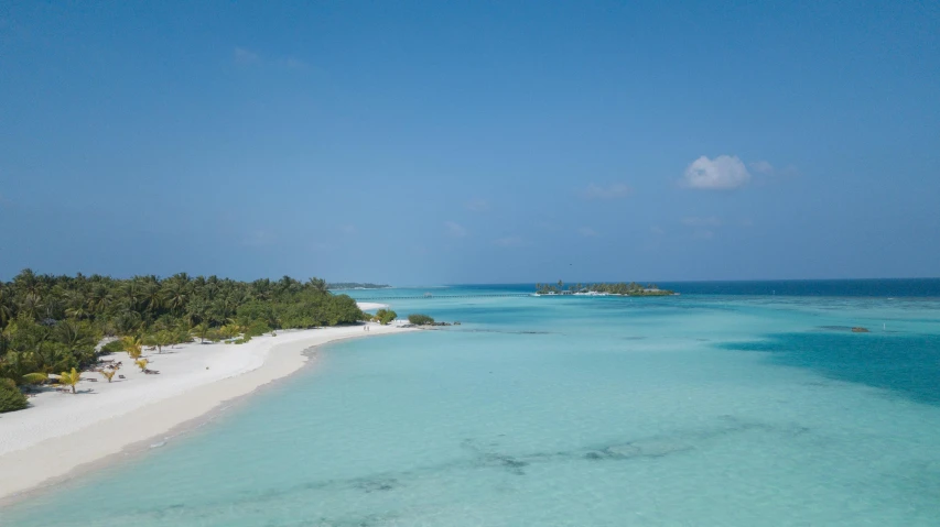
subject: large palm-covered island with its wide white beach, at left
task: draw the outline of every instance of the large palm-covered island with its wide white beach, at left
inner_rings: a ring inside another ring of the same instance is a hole
[[[289,276],[0,281],[0,503],[284,377],[320,345],[417,330],[385,307]]]

